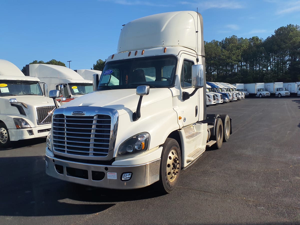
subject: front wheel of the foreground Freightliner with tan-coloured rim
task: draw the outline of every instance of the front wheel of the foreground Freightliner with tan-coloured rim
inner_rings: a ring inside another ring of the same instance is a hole
[[[178,142],[167,138],[163,145],[161,168],[159,174],[159,190],[170,193],[177,186],[181,171],[181,152]]]

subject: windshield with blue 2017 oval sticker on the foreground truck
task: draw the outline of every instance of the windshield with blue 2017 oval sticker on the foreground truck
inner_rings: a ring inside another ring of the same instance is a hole
[[[98,90],[171,87],[175,83],[177,58],[172,55],[132,58],[107,62]]]

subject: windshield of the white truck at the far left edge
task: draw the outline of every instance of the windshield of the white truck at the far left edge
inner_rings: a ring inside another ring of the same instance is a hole
[[[43,95],[38,81],[0,80],[0,96]]]

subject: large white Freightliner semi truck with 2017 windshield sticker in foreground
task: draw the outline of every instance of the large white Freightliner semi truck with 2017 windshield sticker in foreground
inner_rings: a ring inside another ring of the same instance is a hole
[[[113,77],[118,84],[110,84]],[[207,146],[220,148],[229,138],[229,116],[206,113],[200,13],[128,22],[97,82],[94,76],[94,92],[54,111],[48,175],[111,189],[158,182],[169,193]]]

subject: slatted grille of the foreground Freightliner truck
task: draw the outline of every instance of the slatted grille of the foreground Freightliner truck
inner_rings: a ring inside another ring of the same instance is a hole
[[[56,114],[52,123],[55,152],[105,157],[109,152],[111,117]]]

